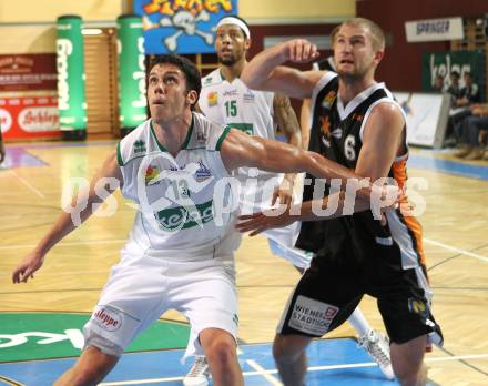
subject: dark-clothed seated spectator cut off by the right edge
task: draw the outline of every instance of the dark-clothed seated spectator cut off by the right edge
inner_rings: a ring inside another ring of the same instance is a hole
[[[461,149],[455,155],[467,161],[481,160],[485,148],[480,134],[488,131],[488,104],[474,104],[470,112],[472,115],[461,122]]]

